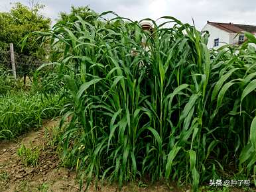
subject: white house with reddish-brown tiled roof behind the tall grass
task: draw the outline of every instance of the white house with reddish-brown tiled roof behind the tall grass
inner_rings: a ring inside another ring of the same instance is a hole
[[[241,44],[245,41],[244,31],[256,36],[256,26],[233,23],[214,23],[208,21],[202,31],[208,30],[208,48],[219,48],[225,44]]]

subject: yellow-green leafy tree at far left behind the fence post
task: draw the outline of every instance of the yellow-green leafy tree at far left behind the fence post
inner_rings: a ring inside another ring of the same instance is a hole
[[[40,15],[39,11],[44,6],[38,3],[31,4],[31,7],[27,7],[21,3],[15,3],[11,8],[11,11],[0,13],[0,62],[4,62],[6,59],[1,52],[9,50],[9,44],[13,43],[15,52],[23,57],[19,57],[19,75],[29,75],[36,69],[35,65],[29,67],[29,62],[38,62],[45,58],[46,44],[40,45],[36,36],[32,36],[27,40],[27,45],[22,49],[21,40],[27,34],[33,31],[46,31],[50,29],[50,19]],[[32,58],[32,59],[31,59]]]

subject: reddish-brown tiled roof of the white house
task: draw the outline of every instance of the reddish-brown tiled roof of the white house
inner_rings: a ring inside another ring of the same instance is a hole
[[[234,23],[215,23],[207,21],[208,24],[211,24],[212,26],[216,26],[217,28],[220,28],[222,30],[225,30],[227,32],[241,32],[241,31],[247,31],[247,32],[256,32],[256,26],[255,25],[247,25],[247,24],[234,24]]]

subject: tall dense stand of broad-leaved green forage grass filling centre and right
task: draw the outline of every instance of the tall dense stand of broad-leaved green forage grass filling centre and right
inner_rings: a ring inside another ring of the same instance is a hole
[[[72,116],[64,160],[88,182],[149,176],[196,190],[232,174],[252,179],[255,38],[209,51],[207,32],[164,19],[173,26],[151,21],[151,33],[119,17],[94,24],[78,17],[43,34],[59,48],[52,65],[69,102],[63,120]]]

